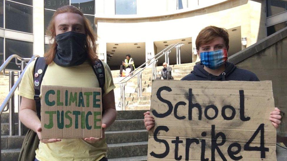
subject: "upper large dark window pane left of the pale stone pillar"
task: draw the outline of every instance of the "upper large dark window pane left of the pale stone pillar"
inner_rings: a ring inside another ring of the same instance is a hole
[[[5,14],[5,28],[33,33],[32,7],[6,1]]]

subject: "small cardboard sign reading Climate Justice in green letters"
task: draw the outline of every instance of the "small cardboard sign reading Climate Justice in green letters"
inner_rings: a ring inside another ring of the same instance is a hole
[[[41,89],[41,139],[102,137],[101,88]]]

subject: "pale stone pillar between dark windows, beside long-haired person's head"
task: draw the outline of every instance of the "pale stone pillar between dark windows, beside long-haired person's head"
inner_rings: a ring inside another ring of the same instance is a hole
[[[34,53],[44,55],[44,1],[33,0]]]

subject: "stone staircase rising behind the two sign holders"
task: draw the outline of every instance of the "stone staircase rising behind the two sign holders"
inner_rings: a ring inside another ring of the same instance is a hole
[[[179,80],[189,74],[193,66],[194,63],[171,65],[172,76]],[[158,76],[160,76],[161,69],[161,66],[157,67]],[[117,77],[119,70],[111,72],[115,83],[123,79]],[[143,71],[142,79],[142,96],[137,97],[137,77],[135,76],[126,85],[126,110],[131,111],[119,111],[121,108],[117,106],[116,121],[106,129],[109,161],[147,160],[148,131],[144,127],[143,113],[150,109],[151,68]],[[1,80],[2,84],[0,85],[7,87],[8,77],[1,76]],[[116,104],[119,104],[119,85],[116,87]],[[4,92],[8,93],[6,89],[3,91],[3,95]],[[18,113],[15,113],[15,122],[18,122]],[[24,126],[24,135],[27,130]],[[15,123],[15,136],[9,136],[9,113],[1,114],[1,160],[18,160],[24,135],[18,136],[18,123]]]

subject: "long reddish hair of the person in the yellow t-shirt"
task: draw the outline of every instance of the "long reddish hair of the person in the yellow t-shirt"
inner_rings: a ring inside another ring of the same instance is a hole
[[[55,40],[56,37],[56,31],[55,31],[55,17],[60,14],[60,13],[76,13],[79,14],[83,17],[84,19],[84,27],[85,27],[85,32],[86,32],[86,51],[88,54],[88,58],[91,61],[91,63],[94,62],[98,58],[96,54],[96,34],[91,27],[90,21],[84,16],[84,14],[75,6],[63,6],[55,11],[53,14],[53,17],[50,21],[50,24],[46,30],[46,35],[51,36],[50,42],[54,40],[54,42],[49,46],[49,50],[44,54],[46,64],[51,64],[53,62],[55,55],[56,55],[56,49],[57,49],[57,43]]]

